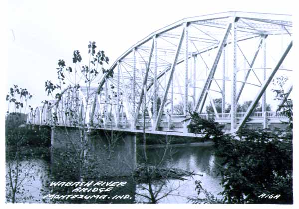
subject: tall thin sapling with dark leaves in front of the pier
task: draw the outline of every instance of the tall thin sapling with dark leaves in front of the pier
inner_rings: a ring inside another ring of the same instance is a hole
[[[99,162],[97,153],[92,146],[92,136],[97,133],[96,128],[101,127],[103,120],[102,115],[95,114],[95,105],[93,104],[96,104],[97,96],[103,90],[103,83],[113,77],[113,70],[105,69],[109,63],[109,58],[105,52],[96,50],[96,43],[90,41],[88,44],[88,62],[86,64],[82,63],[83,58],[78,50],[73,52],[73,66],[67,66],[63,59],[59,59],[56,68],[57,81],[47,80],[45,82],[45,91],[48,95],[51,95],[53,100],[44,101],[43,103],[47,104],[47,111],[55,110],[52,123],[48,125],[63,133],[62,136],[64,137],[55,138],[61,142],[60,144],[63,144],[62,141],[70,143],[70,146],[66,145],[67,147],[64,148],[63,152],[56,151],[54,147],[52,149],[52,155],[58,162],[53,167],[53,170],[56,171],[55,176],[50,177],[55,177],[55,181],[65,181],[66,178],[69,181],[83,181],[86,178],[92,178],[91,171]],[[98,83],[100,79],[101,82]],[[99,87],[93,87],[94,85]],[[113,88],[111,86],[111,89]],[[81,93],[85,96],[83,101],[81,100]],[[114,91],[110,92],[105,103],[111,103],[110,101],[115,98],[115,94]],[[69,103],[71,105],[68,105]],[[83,105],[83,103],[86,105]],[[109,120],[109,110],[106,109],[105,111]],[[71,124],[68,124],[69,121],[71,121]],[[70,129],[69,125],[75,129]],[[76,137],[74,137],[74,131]],[[103,146],[105,152],[108,153],[108,159],[105,160],[109,161],[115,143],[120,140],[120,135],[112,130],[106,132],[102,137],[103,141],[107,142],[107,146],[106,144]],[[61,162],[63,162],[63,166],[61,166]],[[57,187],[52,189],[54,191],[59,190]]]

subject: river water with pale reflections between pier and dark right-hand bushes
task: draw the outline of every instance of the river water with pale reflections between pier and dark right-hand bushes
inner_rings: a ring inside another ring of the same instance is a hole
[[[150,146],[147,148],[148,161],[156,165],[160,161],[162,166],[167,168],[180,168],[188,171],[194,171],[196,174],[193,177],[186,177],[187,180],[169,180],[163,188],[161,195],[174,190],[171,195],[161,199],[159,203],[187,203],[187,197],[196,196],[195,181],[202,182],[203,188],[220,197],[217,194],[222,191],[219,185],[220,178],[217,177],[217,169],[215,166],[215,157],[212,155],[213,147],[211,145],[190,144],[190,145],[174,145],[168,148],[168,152],[163,156],[165,147]],[[137,153],[141,155],[141,146],[138,146]],[[140,163],[141,157],[137,158]],[[138,188],[138,187],[137,187]],[[176,189],[177,188],[177,189]],[[138,193],[138,191],[137,191]],[[204,196],[201,196],[204,197]],[[140,201],[143,198],[137,197]]]

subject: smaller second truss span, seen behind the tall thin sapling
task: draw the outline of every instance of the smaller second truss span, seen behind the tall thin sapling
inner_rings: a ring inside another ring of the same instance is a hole
[[[108,112],[109,118],[107,117],[106,120],[110,120],[110,123],[115,119],[116,101],[114,99],[106,103],[100,99],[100,95],[96,94],[96,90],[97,87],[68,87],[62,91],[61,96],[56,101],[52,102],[52,105],[45,104],[44,109],[49,109],[49,106],[52,107],[51,110],[56,115],[58,125],[89,127],[91,111],[92,108],[95,108],[96,114],[92,115],[93,125],[103,127],[104,111]],[[96,102],[94,102],[95,96],[98,98]],[[108,107],[107,110],[105,110],[104,104]]]

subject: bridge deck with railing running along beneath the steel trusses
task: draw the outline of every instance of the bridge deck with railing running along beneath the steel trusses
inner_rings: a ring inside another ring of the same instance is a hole
[[[238,122],[242,118],[244,113],[238,113]],[[288,122],[288,118],[281,114],[267,113],[267,124],[269,129],[277,128],[285,128],[286,125],[282,124],[282,122]],[[224,132],[230,132],[230,118],[229,113],[218,114],[216,117],[215,114],[201,114],[203,118],[214,118],[215,122],[218,122],[221,125],[224,125]],[[169,116],[162,116],[161,122],[159,123],[159,127],[157,130],[152,130],[152,120],[149,116],[145,117],[145,132],[147,134],[161,134],[161,135],[170,135],[170,136],[184,136],[184,137],[201,137],[201,135],[195,135],[194,133],[184,132],[183,129],[183,120],[185,117],[183,115],[175,115],[169,118]],[[249,129],[263,129],[264,117],[262,113],[255,113],[246,123],[246,128]],[[58,126],[66,126],[73,127],[69,125],[69,123],[63,123],[62,121],[58,121]],[[63,125],[66,124],[66,125]],[[51,124],[40,124],[40,123],[32,123],[32,125],[48,125]],[[139,117],[136,128],[131,127],[131,122],[126,118],[120,120],[119,126],[116,127],[114,120],[109,121],[105,126],[104,124],[100,124],[100,127],[95,129],[99,130],[107,130],[107,131],[122,131],[122,132],[131,132],[131,133],[143,133],[143,118]]]

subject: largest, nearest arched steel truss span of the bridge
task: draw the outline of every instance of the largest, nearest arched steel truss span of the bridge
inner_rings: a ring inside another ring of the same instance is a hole
[[[272,48],[277,42],[281,47]],[[151,33],[125,51],[109,69],[114,72],[113,78],[104,75],[98,92],[102,88],[109,92],[113,87],[131,126],[141,124],[140,112],[146,112],[152,130],[158,129],[163,115],[173,115],[178,100],[183,103],[184,115],[190,98],[193,110],[201,113],[205,105],[215,106],[213,92],[218,92],[223,103],[221,114],[229,98],[232,130],[237,130],[257,102],[262,100],[262,106],[266,106],[267,78],[284,70],[281,64],[291,46],[290,15],[232,11],[186,18]],[[227,85],[233,93],[227,92]],[[250,91],[250,85],[260,94],[251,96],[253,107],[237,124],[236,106],[240,98],[246,98],[242,92]],[[161,104],[157,103],[159,99]],[[144,102],[148,104],[146,110],[142,110]],[[118,124],[117,112],[116,118]]]

